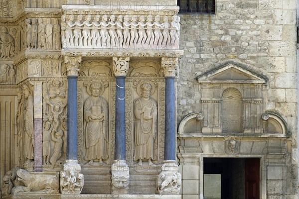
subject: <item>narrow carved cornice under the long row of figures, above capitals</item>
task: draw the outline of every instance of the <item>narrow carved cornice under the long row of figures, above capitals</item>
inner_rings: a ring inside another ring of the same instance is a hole
[[[139,57],[139,58],[179,58],[183,56],[183,50],[121,50],[121,49],[65,49],[61,50],[64,56],[82,56],[82,57]]]

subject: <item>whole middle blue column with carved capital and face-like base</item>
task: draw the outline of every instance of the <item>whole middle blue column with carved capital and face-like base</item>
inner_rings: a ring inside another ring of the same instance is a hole
[[[129,57],[113,57],[116,79],[115,99],[115,152],[112,172],[112,194],[129,194],[129,167],[126,163],[126,95],[125,79],[129,70]]]

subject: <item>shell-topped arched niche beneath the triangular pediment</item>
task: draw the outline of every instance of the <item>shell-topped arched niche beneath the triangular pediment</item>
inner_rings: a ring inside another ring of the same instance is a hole
[[[236,88],[225,89],[221,99],[222,133],[243,132],[242,94]]]

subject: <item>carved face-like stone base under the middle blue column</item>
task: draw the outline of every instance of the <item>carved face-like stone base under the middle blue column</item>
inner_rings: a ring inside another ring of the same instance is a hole
[[[126,160],[114,160],[111,173],[112,194],[129,194],[130,174]]]

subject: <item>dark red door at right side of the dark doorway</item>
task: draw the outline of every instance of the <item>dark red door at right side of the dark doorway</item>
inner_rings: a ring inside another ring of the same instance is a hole
[[[245,199],[260,199],[260,159],[245,160]]]

